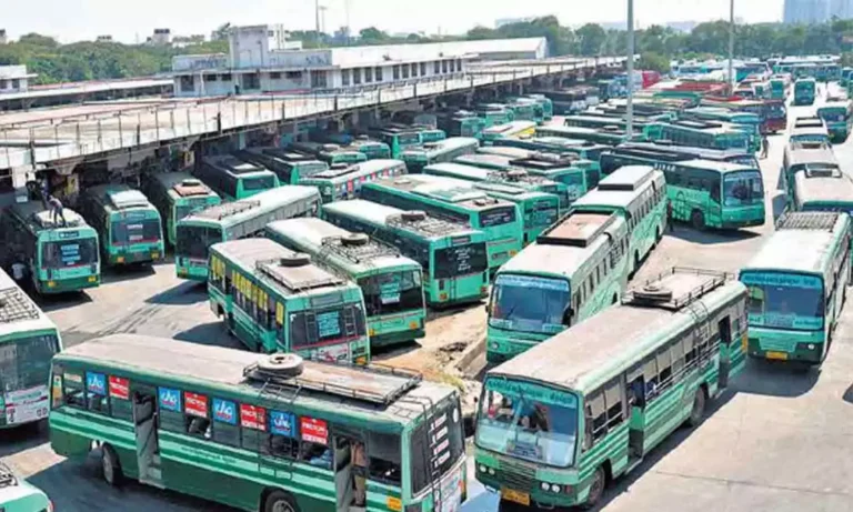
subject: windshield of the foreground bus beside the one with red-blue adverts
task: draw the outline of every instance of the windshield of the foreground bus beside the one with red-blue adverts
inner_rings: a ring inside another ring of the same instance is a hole
[[[559,468],[574,463],[578,398],[573,393],[501,378],[486,381],[476,445]]]

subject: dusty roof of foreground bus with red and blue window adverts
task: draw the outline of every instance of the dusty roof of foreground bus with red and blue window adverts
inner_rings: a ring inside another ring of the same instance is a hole
[[[167,385],[198,386],[199,391],[297,414],[322,411],[380,431],[402,431],[430,412],[423,403],[439,403],[455,394],[452,388],[425,382],[414,373],[315,361],[303,361],[298,377],[262,380],[251,372],[262,358],[265,355],[178,340],[112,334],[63,351],[54,362],[103,368],[131,381],[138,377]]]

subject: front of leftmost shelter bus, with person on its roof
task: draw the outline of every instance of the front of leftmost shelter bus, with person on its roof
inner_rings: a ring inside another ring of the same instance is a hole
[[[66,210],[66,218],[79,218]],[[33,282],[39,293],[63,293],[101,284],[98,232],[82,221],[39,233],[39,265]]]

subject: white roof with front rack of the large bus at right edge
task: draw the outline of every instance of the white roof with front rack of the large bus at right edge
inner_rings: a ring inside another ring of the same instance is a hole
[[[789,212],[741,272],[784,270],[823,275],[832,270],[833,249],[846,238],[846,212]]]

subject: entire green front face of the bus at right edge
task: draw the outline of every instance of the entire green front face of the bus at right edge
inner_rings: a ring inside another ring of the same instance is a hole
[[[826,341],[823,278],[746,268],[740,280],[749,289],[747,353],[770,360],[820,363]]]

